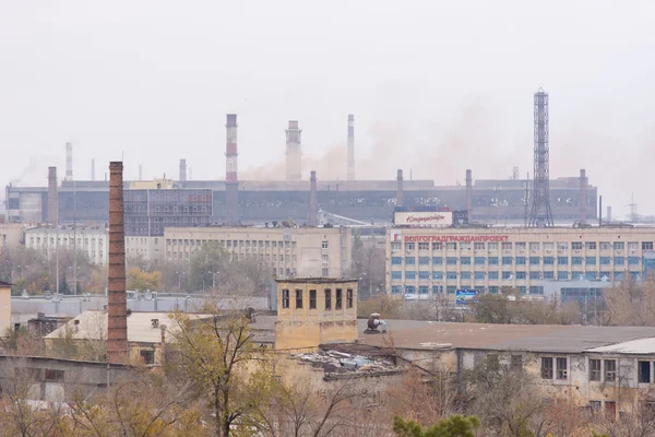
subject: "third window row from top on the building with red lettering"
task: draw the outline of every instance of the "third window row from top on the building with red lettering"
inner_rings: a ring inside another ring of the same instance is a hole
[[[512,280],[555,280],[557,277],[558,281],[570,281],[570,280],[585,280],[585,281],[595,281],[595,280],[604,280],[604,281],[609,281],[611,279],[615,280],[621,280],[623,279],[623,275],[626,273],[632,275],[633,277],[638,277],[641,276],[641,272],[640,271],[615,271],[614,273],[611,271],[602,271],[602,272],[569,272],[569,271],[545,271],[545,272],[539,272],[539,271],[531,271],[531,272],[526,272],[526,271],[490,271],[490,272],[486,272],[486,271],[477,271],[477,272],[469,272],[469,271],[452,271],[452,272],[442,272],[441,270],[439,271],[428,271],[428,270],[419,270],[418,272],[414,271],[414,270],[407,270],[405,272],[400,271],[400,270],[392,270],[391,271],[391,279],[393,281],[401,281],[403,280],[403,273],[404,273],[404,277],[407,281],[414,281],[414,280],[421,280],[421,281],[429,281],[430,279],[433,281],[441,281],[443,279],[445,279],[446,281],[456,281],[457,279],[461,280],[479,280],[479,281],[484,281],[485,279],[489,280],[489,281],[499,281],[499,280],[503,280],[503,281],[512,281]]]

